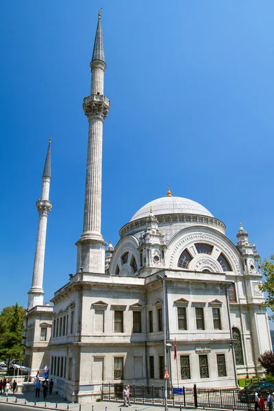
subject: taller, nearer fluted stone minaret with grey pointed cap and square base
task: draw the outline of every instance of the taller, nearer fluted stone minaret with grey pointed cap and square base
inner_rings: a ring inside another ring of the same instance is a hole
[[[103,121],[110,110],[110,100],[103,94],[105,53],[101,12],[93,47],[90,69],[92,73],[90,96],[84,98],[83,108],[88,117],[88,158],[86,164],[86,192],[84,228],[77,241],[77,273],[105,273],[105,246],[101,234],[102,145]]]

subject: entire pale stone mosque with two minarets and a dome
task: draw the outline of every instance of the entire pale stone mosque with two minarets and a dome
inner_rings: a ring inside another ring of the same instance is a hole
[[[190,199],[155,199],[121,227],[116,247],[101,235],[105,55],[99,13],[90,62],[84,229],[77,269],[43,301],[47,218],[51,210],[51,141],[42,175],[32,287],[25,316],[25,365],[49,366],[69,401],[99,397],[102,383],[235,386],[237,375],[260,375],[271,349],[262,306],[258,252],[240,225],[237,245],[225,224]],[[166,345],[164,345],[166,343]]]

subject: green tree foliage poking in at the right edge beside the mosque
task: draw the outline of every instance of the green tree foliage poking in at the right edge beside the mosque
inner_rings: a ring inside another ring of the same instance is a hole
[[[274,320],[274,254],[269,256],[269,260],[264,258],[260,262],[260,269],[264,275],[264,282],[260,288],[266,292],[265,306],[273,312],[269,319]]]

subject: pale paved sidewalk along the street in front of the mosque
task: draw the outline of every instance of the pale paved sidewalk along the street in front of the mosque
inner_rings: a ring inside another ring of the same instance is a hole
[[[46,399],[42,399],[41,393],[40,398],[36,403],[35,393],[16,393],[15,395],[8,396],[8,402],[6,402],[5,395],[0,395],[0,403],[7,404],[7,411],[8,411],[8,404],[17,404],[17,405],[25,405],[29,406],[29,409],[32,408],[36,409],[44,409],[44,410],[73,410],[73,411],[123,411],[126,407],[123,406],[123,401],[101,401],[101,402],[92,402],[88,404],[79,404],[79,403],[69,403],[65,399],[62,399],[60,395],[49,395]],[[46,403],[46,406],[45,406]],[[57,404],[57,408],[56,408]],[[69,408],[68,408],[69,406]],[[18,407],[18,409],[20,409]],[[120,410],[121,409],[121,410]],[[179,411],[179,407],[169,407],[169,411]],[[194,409],[194,408],[190,408]],[[132,403],[131,407],[128,407],[130,411],[162,411],[164,410],[164,406],[152,406],[149,404],[136,404]],[[213,410],[211,410],[213,411]]]

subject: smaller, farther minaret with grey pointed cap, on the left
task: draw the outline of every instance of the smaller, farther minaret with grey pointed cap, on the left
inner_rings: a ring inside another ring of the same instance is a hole
[[[47,149],[47,158],[44,172],[42,175],[42,195],[41,199],[36,201],[36,207],[39,214],[38,234],[36,240],[36,251],[34,258],[34,273],[32,275],[32,288],[29,290],[29,301],[27,308],[42,306],[43,296],[45,294],[42,288],[42,279],[44,275],[45,247],[47,235],[47,216],[51,211],[52,203],[49,201],[49,185],[51,184],[51,138],[49,138],[49,148]]]

